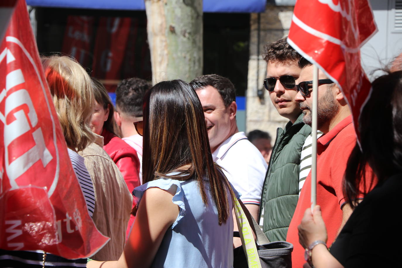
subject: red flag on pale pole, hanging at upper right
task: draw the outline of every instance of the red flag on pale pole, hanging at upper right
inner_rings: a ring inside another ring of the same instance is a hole
[[[288,43],[340,85],[358,138],[358,119],[371,92],[360,48],[376,32],[367,0],[297,0],[289,31]]]

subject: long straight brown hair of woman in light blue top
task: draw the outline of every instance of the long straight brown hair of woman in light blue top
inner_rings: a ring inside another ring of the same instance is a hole
[[[164,81],[144,96],[143,182],[158,178],[195,178],[203,203],[207,177],[219,225],[229,218],[228,192],[232,188],[212,160],[201,102],[189,84],[182,80]],[[186,167],[185,167],[186,166]],[[175,175],[168,175],[176,172]]]

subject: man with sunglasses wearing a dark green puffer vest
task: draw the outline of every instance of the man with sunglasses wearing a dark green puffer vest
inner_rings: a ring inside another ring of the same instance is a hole
[[[278,128],[271,153],[260,207],[260,225],[270,241],[285,240],[298,200],[300,153],[311,127],[302,121],[295,80],[299,78],[297,61],[301,55],[280,39],[265,45],[262,53],[267,62],[264,86],[279,115],[289,119]]]

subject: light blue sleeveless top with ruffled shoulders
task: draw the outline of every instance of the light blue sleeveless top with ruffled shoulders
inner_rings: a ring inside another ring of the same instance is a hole
[[[219,225],[209,182],[204,180],[209,200],[207,206],[194,179],[179,181],[161,178],[133,190],[139,203],[145,190],[150,187],[168,190],[173,184],[177,186],[172,202],[180,207],[180,211],[176,221],[166,231],[151,267],[233,267],[233,216],[230,213],[226,223]],[[237,198],[240,197],[236,190],[234,193]],[[232,211],[232,198],[229,195],[228,199]]]

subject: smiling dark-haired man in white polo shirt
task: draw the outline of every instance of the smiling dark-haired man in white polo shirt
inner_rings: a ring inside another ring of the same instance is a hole
[[[190,84],[203,106],[213,160],[225,169],[226,177],[256,219],[267,163],[244,132],[238,130],[234,85],[217,74],[199,76]]]

